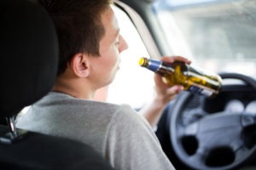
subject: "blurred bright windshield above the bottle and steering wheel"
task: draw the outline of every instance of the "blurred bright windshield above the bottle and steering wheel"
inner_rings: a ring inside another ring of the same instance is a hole
[[[207,70],[256,76],[255,0],[160,0],[154,10],[169,53]]]

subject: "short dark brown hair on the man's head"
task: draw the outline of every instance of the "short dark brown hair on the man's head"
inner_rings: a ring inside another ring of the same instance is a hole
[[[112,0],[39,0],[55,22],[60,44],[58,75],[74,54],[99,55],[104,35],[101,14]]]

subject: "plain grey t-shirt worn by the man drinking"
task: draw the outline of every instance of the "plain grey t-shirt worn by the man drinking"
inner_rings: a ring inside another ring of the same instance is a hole
[[[129,105],[50,92],[16,126],[89,144],[117,170],[174,169],[148,122]]]

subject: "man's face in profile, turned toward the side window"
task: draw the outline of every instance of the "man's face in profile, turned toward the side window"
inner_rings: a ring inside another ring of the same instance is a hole
[[[91,58],[91,73],[96,79],[96,88],[102,88],[113,81],[119,70],[119,54],[128,48],[124,38],[119,35],[119,25],[112,8],[102,14],[102,24],[105,35],[100,42],[100,57]]]

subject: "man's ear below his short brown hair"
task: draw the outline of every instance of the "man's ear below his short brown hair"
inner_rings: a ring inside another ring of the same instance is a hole
[[[73,73],[78,77],[88,77],[90,73],[90,62],[88,55],[75,54],[70,61],[70,67]]]

